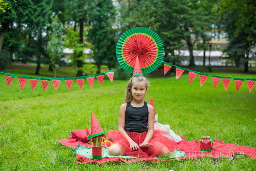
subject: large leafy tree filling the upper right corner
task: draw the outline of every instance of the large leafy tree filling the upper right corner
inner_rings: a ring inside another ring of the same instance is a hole
[[[215,0],[212,7],[228,34],[230,44],[227,51],[235,61],[240,61],[239,58],[244,60],[245,72],[248,72],[249,53],[253,51],[256,41],[255,6],[253,0]]]

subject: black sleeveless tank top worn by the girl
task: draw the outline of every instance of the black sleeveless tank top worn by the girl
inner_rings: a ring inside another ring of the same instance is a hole
[[[144,102],[142,107],[133,107],[131,102],[126,104],[124,129],[130,132],[144,132],[148,123],[148,107]]]

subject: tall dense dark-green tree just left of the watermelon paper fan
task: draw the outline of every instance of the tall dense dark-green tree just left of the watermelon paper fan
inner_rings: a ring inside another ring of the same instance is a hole
[[[97,73],[100,73],[102,64],[107,64],[109,69],[116,65],[116,30],[113,28],[116,10],[111,0],[94,0],[88,13],[88,40],[92,44]]]

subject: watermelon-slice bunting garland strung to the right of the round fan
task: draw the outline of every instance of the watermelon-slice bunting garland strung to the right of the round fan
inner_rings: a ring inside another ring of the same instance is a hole
[[[182,73],[185,70],[187,70],[188,71],[188,76],[189,76],[189,84],[193,81],[193,79],[195,78],[197,73],[199,73],[200,86],[202,87],[202,85],[206,81],[207,77],[210,75],[210,74],[206,74],[206,73],[200,73],[200,72],[197,72],[197,71],[192,71],[190,69],[182,68],[180,66],[176,66],[176,65],[173,65],[173,64],[169,64],[165,61],[162,61],[162,62],[163,62],[163,67],[164,67],[164,75],[169,71],[169,69],[167,68],[168,66],[170,66],[169,68],[171,68],[172,66],[176,67],[176,80],[182,75]],[[218,85],[219,80],[222,80],[225,91],[227,90],[227,87],[229,86],[229,83],[230,83],[231,79],[234,79],[237,92],[240,89],[243,81],[245,80],[245,79],[242,79],[242,78],[220,77],[220,76],[215,76],[215,75],[210,75],[210,76],[212,77],[212,83],[213,83],[214,89]],[[255,81],[256,81],[256,79],[246,79],[246,83],[247,83],[248,90],[249,90],[250,93],[251,93],[252,88],[255,84]]]

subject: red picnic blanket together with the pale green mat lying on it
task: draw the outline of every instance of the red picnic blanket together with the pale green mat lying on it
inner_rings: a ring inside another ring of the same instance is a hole
[[[72,132],[73,133],[79,132],[79,134],[73,134]],[[195,140],[187,141],[184,139],[183,136],[180,136],[182,140],[180,142],[177,142],[177,149],[174,151],[173,155],[170,156],[168,159],[159,159],[156,157],[155,158],[138,158],[138,157],[131,157],[131,156],[109,156],[107,149],[103,148],[102,159],[93,160],[91,153],[85,147],[88,140],[86,140],[84,137],[81,137],[81,135],[83,135],[85,130],[74,130],[72,132],[71,132],[72,136],[68,137],[67,140],[57,140],[57,142],[60,142],[61,144],[74,149],[73,151],[75,152],[76,158],[78,159],[76,164],[84,164],[84,163],[102,164],[110,161],[117,161],[117,162],[122,161],[125,163],[132,163],[135,161],[158,162],[158,161],[172,160],[173,158],[181,160],[181,159],[195,159],[195,158],[205,157],[205,156],[208,156],[211,158],[222,158],[222,157],[230,158],[233,155],[236,155],[236,153],[244,154],[253,159],[256,159],[256,148],[237,146],[235,144],[225,144],[224,142],[220,140],[218,141],[217,138],[215,138],[211,152],[205,152],[205,151],[200,151],[200,146],[198,141],[195,141]],[[84,139],[81,139],[81,138],[84,138]]]

